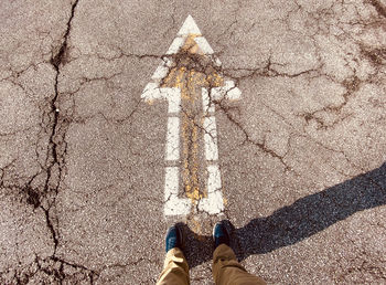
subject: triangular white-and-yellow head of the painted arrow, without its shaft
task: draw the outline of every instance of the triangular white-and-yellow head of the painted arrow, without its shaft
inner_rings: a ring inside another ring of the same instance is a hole
[[[211,88],[208,96],[211,101],[240,97],[242,92],[235,83],[224,81],[219,75],[221,61],[202,36],[192,15],[187,15],[162,60],[151,77],[153,82],[143,89],[141,97],[147,102],[162,98],[169,101],[169,106],[174,105],[172,102],[175,101],[175,92],[170,89],[182,88],[187,82]]]

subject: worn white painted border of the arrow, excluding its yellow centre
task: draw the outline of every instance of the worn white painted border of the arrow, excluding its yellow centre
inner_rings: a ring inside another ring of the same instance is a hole
[[[178,36],[171,43],[158,66],[152,81],[141,95],[146,102],[154,99],[168,101],[168,126],[165,145],[165,183],[164,183],[164,215],[187,215],[192,209],[192,202],[187,198],[179,198],[180,190],[180,112],[181,91],[176,87],[160,87],[162,80],[169,74],[169,68],[173,65],[173,54],[179,53],[187,36],[193,35],[199,45],[199,52],[211,56],[216,66],[221,66],[221,61],[214,55],[214,51],[204,36],[193,18],[189,15],[178,32]],[[216,120],[214,117],[215,106],[213,101],[238,99],[242,92],[235,86],[233,81],[226,81],[224,86],[214,87],[211,91],[202,88],[203,103],[203,129],[204,129],[204,151],[207,167],[207,197],[197,202],[200,211],[210,214],[217,214],[224,210],[221,171],[218,167],[218,147]]]

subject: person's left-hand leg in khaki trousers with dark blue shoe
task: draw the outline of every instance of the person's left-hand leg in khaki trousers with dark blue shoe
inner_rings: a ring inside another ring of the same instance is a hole
[[[189,265],[183,255],[184,236],[179,224],[167,233],[167,257],[157,285],[189,285]]]

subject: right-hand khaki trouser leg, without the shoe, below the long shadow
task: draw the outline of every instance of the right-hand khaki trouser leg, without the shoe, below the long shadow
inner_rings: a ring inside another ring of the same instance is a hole
[[[260,277],[247,273],[226,244],[218,245],[213,253],[213,278],[216,285],[266,284]]]

